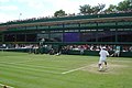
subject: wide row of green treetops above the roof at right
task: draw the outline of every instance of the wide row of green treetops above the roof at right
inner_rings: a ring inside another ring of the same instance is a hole
[[[97,14],[99,12],[118,12],[118,11],[132,11],[132,0],[124,0],[119,2],[118,6],[110,4],[105,9],[106,4],[98,4],[91,7],[90,4],[80,6],[80,14]],[[105,10],[103,10],[105,9]]]

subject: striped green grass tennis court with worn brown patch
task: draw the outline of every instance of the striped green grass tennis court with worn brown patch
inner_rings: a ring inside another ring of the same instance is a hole
[[[132,58],[108,57],[106,72],[98,72],[98,58],[0,52],[0,85],[8,88],[132,87]]]

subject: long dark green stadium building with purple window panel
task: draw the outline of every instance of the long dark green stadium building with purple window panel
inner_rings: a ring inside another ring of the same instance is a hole
[[[132,13],[41,18],[0,24],[1,44],[120,45],[132,55]]]

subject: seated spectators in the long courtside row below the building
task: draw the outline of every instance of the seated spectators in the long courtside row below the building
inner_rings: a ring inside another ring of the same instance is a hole
[[[64,51],[100,51],[102,46],[107,47],[107,51],[114,51],[117,45],[97,45],[97,44],[86,44],[86,45],[64,45],[61,46],[61,50]],[[131,45],[119,45],[121,46],[121,52],[132,52]],[[38,44],[0,44],[0,48],[38,48]],[[43,45],[43,47],[52,50],[52,45]]]

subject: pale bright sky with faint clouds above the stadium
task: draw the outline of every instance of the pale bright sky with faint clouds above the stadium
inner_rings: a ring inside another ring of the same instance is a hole
[[[13,20],[52,16],[58,10],[79,13],[79,6],[118,4],[123,0],[0,0],[0,23]]]

